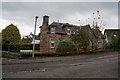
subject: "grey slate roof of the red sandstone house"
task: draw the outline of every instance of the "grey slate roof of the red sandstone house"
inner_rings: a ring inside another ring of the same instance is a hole
[[[102,35],[102,33],[98,29],[91,29],[90,25],[77,26],[77,25],[72,25],[69,23],[53,22],[49,26],[55,27],[55,33],[63,33],[63,34],[67,34],[66,30],[69,27],[71,28],[71,34],[74,34],[74,32],[76,32],[77,29],[89,28],[95,38],[99,38],[99,37],[101,37],[103,39],[106,38],[104,35]],[[48,32],[50,32],[50,28],[49,28]]]

